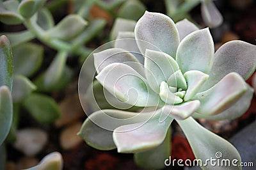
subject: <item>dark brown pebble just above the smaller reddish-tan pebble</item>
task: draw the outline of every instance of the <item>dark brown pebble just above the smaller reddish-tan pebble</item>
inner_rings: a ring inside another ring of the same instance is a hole
[[[62,100],[59,108],[61,117],[55,121],[56,127],[63,127],[64,125],[73,123],[85,115],[78,95],[73,95]]]

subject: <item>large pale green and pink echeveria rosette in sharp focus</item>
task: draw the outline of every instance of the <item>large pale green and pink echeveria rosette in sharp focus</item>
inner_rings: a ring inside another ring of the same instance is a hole
[[[86,143],[100,150],[117,148],[120,153],[135,153],[137,164],[159,169],[170,155],[166,134],[176,120],[196,158],[216,158],[216,152],[221,151],[221,158],[241,162],[232,144],[202,127],[194,117],[231,119],[248,109],[253,89],[244,79],[255,71],[255,45],[232,41],[214,54],[208,28],[198,29],[188,20],[174,24],[166,15],[150,12],[138,20],[134,33],[120,32],[118,37],[136,40],[129,44],[117,41],[114,48],[94,54],[96,79],[118,100],[157,109],[140,114],[94,112],[79,132]],[[145,56],[143,65],[134,52]],[[145,161],[154,164],[147,166]]]

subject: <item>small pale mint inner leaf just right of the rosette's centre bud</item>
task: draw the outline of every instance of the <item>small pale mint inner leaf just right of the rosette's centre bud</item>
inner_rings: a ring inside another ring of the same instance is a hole
[[[193,98],[194,95],[196,95],[202,84],[204,84],[204,82],[207,81],[207,79],[209,78],[209,75],[196,70],[191,70],[184,73],[184,78],[188,83],[188,89],[186,91],[184,100],[188,101]]]

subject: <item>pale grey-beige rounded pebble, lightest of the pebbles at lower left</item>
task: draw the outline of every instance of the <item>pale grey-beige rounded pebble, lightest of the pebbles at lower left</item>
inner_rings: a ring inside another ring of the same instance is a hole
[[[14,147],[27,156],[33,156],[39,153],[46,143],[47,134],[45,131],[36,128],[24,128],[17,131]]]

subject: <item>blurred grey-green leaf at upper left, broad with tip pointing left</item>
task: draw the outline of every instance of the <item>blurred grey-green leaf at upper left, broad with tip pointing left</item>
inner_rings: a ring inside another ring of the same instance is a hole
[[[46,34],[52,38],[70,40],[81,33],[87,22],[79,15],[67,15],[56,26],[49,29]]]

